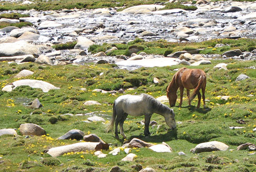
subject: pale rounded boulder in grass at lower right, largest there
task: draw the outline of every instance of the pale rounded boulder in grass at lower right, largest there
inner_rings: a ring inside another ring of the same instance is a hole
[[[219,141],[209,141],[200,143],[196,148],[191,149],[190,152],[201,153],[201,152],[212,152],[212,151],[227,151],[228,145]]]

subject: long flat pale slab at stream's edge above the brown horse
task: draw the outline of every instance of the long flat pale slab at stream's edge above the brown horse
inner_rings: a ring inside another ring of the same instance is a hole
[[[131,60],[131,61],[120,61],[116,64],[124,67],[163,67],[163,66],[172,66],[177,65],[180,62],[176,58],[153,58],[153,59],[142,59],[142,60]]]

